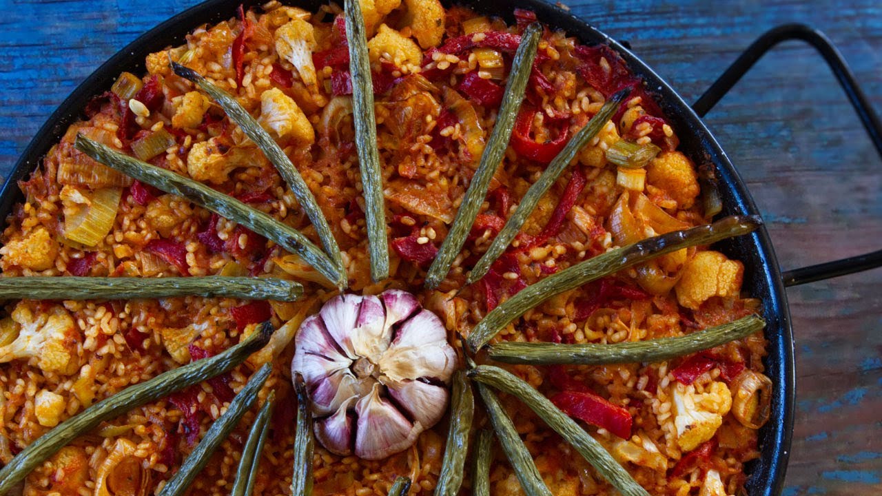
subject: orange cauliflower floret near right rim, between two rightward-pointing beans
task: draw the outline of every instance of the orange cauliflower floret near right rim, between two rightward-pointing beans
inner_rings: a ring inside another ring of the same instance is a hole
[[[676,283],[676,299],[696,310],[711,297],[737,297],[744,280],[744,264],[721,252],[698,252],[683,267]]]

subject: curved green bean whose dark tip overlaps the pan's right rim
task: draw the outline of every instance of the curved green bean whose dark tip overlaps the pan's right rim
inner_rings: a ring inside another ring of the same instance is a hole
[[[676,252],[690,246],[713,244],[721,239],[747,234],[760,225],[762,221],[759,217],[732,215],[713,224],[649,237],[567,267],[557,274],[549,275],[542,281],[521,289],[516,295],[505,300],[505,303],[490,311],[468,334],[467,346],[473,352],[481,349],[512,320],[564,291],[578,288],[587,282],[615,274],[624,268],[665,253]]]

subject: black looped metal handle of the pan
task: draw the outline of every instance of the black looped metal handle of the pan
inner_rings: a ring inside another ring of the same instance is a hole
[[[833,43],[817,29],[813,29],[804,24],[784,24],[774,27],[773,29],[761,35],[757,41],[751,43],[751,46],[744,50],[736,61],[729,65],[729,69],[722,73],[714,84],[707,88],[705,94],[702,94],[698,101],[692,104],[692,109],[699,116],[705,116],[714,105],[732,89],[732,86],[750,71],[753,64],[756,64],[760,57],[766,54],[769,49],[781,41],[801,40],[810,44],[818,53],[824,57],[827,65],[833,71],[833,75],[839,81],[840,86],[851,101],[852,107],[855,108],[857,116],[861,119],[863,129],[870,136],[873,146],[879,156],[882,157],[882,124],[873,111],[870,103],[864,96],[861,88],[857,86],[855,75],[848,68],[845,59]],[[785,286],[797,286],[806,282],[823,281],[840,275],[854,274],[871,268],[882,266],[882,250],[876,252],[864,253],[856,257],[848,259],[839,259],[832,262],[813,265],[809,267],[801,267],[781,274]]]

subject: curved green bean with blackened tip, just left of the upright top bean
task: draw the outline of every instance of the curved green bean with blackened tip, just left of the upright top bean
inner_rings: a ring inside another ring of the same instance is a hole
[[[316,198],[312,196],[309,186],[306,185],[303,177],[300,176],[294,164],[288,159],[288,155],[285,154],[273,137],[258,124],[258,121],[254,120],[254,117],[248,113],[248,110],[245,110],[232,95],[218,86],[214,86],[197,71],[188,69],[176,62],[171,63],[171,68],[178,76],[183,79],[190,79],[211,96],[214,101],[217,101],[221,105],[221,109],[227,112],[230,120],[242,128],[245,136],[254,141],[258,148],[266,155],[266,158],[273,162],[273,166],[279,170],[282,179],[291,187],[291,191],[294,192],[300,207],[303,208],[306,216],[310,218],[312,227],[316,229],[318,238],[322,240],[322,244],[325,246],[325,252],[331,257],[333,265],[340,274],[339,279],[331,279],[331,281],[337,284],[340,289],[345,289],[348,281],[346,278],[346,267],[343,267],[343,258],[340,255],[340,246],[337,245],[337,241],[333,238],[331,228],[328,226],[325,214],[322,214],[322,209],[318,207]]]

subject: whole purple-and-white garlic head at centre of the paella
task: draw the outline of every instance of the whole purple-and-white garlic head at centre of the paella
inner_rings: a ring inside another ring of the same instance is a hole
[[[291,370],[309,389],[316,438],[336,455],[383,459],[444,416],[456,352],[407,291],[333,297],[295,344]]]

